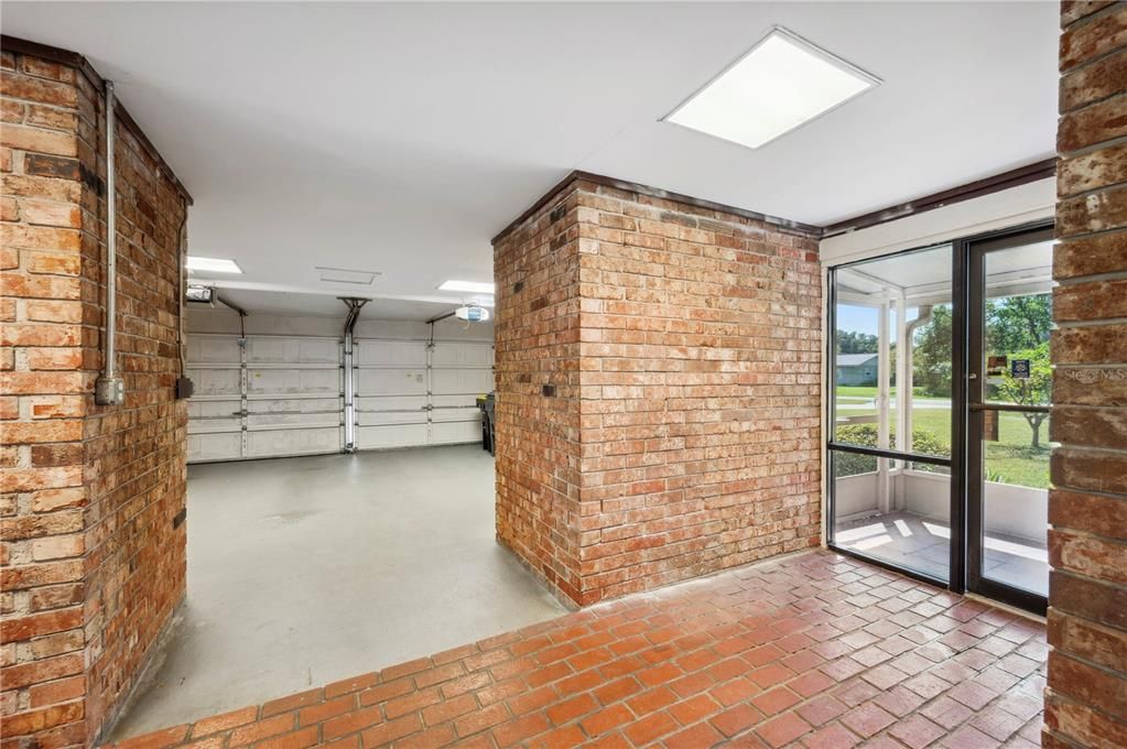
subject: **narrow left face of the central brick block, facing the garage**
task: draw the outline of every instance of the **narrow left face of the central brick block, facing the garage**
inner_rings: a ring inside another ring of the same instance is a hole
[[[494,251],[497,537],[571,600],[580,591],[576,204],[575,190],[561,195]]]

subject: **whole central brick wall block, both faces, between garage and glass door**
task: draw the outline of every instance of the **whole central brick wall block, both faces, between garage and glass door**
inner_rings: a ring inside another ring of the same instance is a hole
[[[580,177],[495,249],[503,543],[582,605],[818,543],[815,240]]]

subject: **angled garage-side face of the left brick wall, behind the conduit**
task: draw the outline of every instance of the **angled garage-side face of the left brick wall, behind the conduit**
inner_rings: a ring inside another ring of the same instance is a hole
[[[105,175],[105,99],[80,78],[80,155]],[[97,157],[96,157],[97,154]],[[87,712],[112,716],[185,595],[187,401],[181,373],[184,195],[136,133],[118,122],[117,368],[124,405],[89,407],[86,447]],[[97,163],[95,159],[98,159]],[[83,366],[100,369],[107,195],[83,195]]]

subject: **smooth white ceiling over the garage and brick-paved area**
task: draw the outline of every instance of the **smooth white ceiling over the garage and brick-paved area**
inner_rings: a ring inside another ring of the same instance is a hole
[[[755,151],[658,122],[773,24],[884,84]],[[5,2],[3,33],[116,81],[192,253],[257,289],[458,301],[571,169],[825,224],[1054,153],[1055,2]]]

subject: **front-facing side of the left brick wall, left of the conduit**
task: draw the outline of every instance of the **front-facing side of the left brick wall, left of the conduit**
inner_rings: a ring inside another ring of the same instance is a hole
[[[82,170],[78,75],[5,52],[5,738],[86,740]]]

